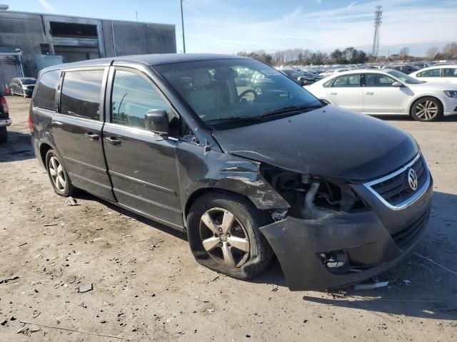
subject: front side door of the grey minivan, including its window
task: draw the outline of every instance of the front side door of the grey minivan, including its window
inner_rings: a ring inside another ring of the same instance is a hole
[[[130,68],[111,68],[110,114],[104,149],[117,201],[154,219],[182,227],[176,140],[146,130],[144,115],[165,109],[178,120],[154,83]],[[108,101],[108,99],[107,99]]]

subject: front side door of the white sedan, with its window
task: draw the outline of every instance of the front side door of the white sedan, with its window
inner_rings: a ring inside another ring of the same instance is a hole
[[[363,87],[363,113],[406,114],[408,88],[393,87],[396,82],[383,73],[367,73]]]

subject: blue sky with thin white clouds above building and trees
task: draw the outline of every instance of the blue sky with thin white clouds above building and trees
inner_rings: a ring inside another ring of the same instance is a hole
[[[0,0],[11,11],[176,24],[182,50],[179,0]],[[456,0],[184,0],[187,52],[236,53],[285,48],[371,51],[376,5],[383,6],[380,53],[407,46],[423,55],[430,46],[457,41]]]

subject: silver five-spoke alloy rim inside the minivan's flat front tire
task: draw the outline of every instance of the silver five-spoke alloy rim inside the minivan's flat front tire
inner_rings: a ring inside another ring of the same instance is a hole
[[[204,212],[200,219],[200,237],[209,256],[222,266],[240,267],[249,257],[246,228],[226,209],[211,208]]]

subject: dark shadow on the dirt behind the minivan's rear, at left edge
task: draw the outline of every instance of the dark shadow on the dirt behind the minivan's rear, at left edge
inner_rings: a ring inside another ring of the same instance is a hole
[[[0,144],[0,162],[17,162],[34,157],[30,134],[8,131],[8,140]]]

